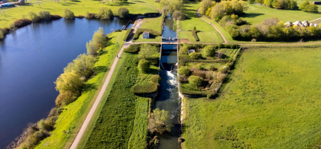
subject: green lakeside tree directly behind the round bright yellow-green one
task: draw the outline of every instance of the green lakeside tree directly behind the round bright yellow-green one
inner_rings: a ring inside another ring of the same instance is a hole
[[[92,55],[78,55],[78,57],[69,62],[67,67],[63,68],[63,72],[76,72],[80,76],[90,77],[93,74],[93,65],[95,65],[95,58]]]

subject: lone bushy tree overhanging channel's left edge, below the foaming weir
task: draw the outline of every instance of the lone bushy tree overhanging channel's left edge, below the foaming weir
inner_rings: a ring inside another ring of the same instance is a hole
[[[170,115],[168,111],[154,109],[151,113],[151,118],[148,120],[148,131],[151,133],[163,133],[165,131],[170,131],[173,125],[170,123]]]

